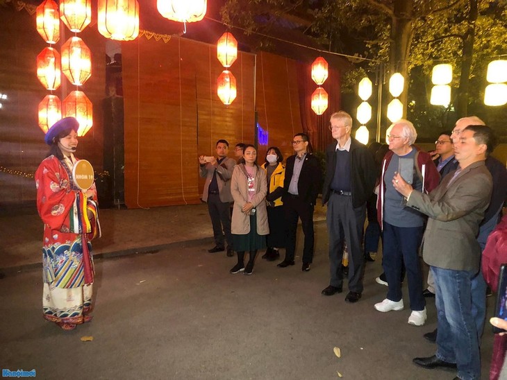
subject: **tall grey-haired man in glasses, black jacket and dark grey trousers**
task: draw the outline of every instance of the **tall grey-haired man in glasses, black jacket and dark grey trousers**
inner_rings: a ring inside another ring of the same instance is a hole
[[[357,302],[363,293],[365,260],[361,243],[365,225],[366,201],[373,193],[376,166],[366,146],[351,138],[352,118],[340,111],[331,115],[329,130],[336,142],[326,148],[326,180],[322,205],[327,205],[331,281],[322,291],[333,295],[343,291],[343,243],[349,245],[349,294],[347,302]]]

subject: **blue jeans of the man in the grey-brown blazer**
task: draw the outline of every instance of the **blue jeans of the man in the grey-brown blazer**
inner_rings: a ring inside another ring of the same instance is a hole
[[[435,277],[438,359],[458,365],[463,380],[481,378],[481,356],[472,316],[472,277],[468,270],[430,268]]]

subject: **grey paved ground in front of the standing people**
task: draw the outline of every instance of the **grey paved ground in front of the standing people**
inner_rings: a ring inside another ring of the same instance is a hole
[[[365,292],[357,304],[345,303],[346,293],[320,295],[329,280],[325,223],[316,225],[309,273],[301,272],[300,258],[285,269],[259,258],[252,276],[230,275],[235,259],[206,252],[209,226],[188,241],[181,231],[168,243],[156,237],[180,228],[193,234],[199,223],[182,216],[181,209],[188,207],[194,207],[202,228],[209,224],[201,205],[102,213],[113,214],[108,218],[115,225],[104,225],[104,231],[115,237],[106,238],[102,248],[100,241],[94,245],[96,252],[102,249],[96,261],[95,318],[74,331],[42,319],[38,264],[7,267],[2,261],[1,368],[35,369],[42,379],[338,379],[337,371],[345,379],[454,378],[455,372],[411,363],[414,356],[434,352],[435,345],[422,338],[435,327],[434,302],[427,306],[425,327],[408,325],[408,310],[374,310],[386,291],[374,282],[381,272],[379,261],[368,264]],[[6,236],[9,223],[0,218],[2,245],[7,238],[12,243],[13,231],[22,234],[19,229],[28,227],[26,219],[21,222]],[[151,247],[151,253],[128,255],[135,252],[140,232],[154,236],[138,243]],[[29,256],[38,257],[40,243],[33,244]],[[301,241],[298,245],[301,250]],[[492,301],[488,299],[490,310]],[[82,342],[82,336],[94,340]],[[481,352],[484,379],[491,342],[487,326]],[[342,350],[340,359],[333,347]]]

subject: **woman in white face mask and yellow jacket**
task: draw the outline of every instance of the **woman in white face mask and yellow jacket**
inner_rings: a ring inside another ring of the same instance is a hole
[[[262,168],[267,174],[267,221],[269,235],[267,235],[267,250],[263,259],[275,261],[279,259],[279,248],[285,248],[285,223],[283,216],[283,180],[285,166],[282,165],[283,155],[279,148],[270,146],[267,149],[266,162]]]

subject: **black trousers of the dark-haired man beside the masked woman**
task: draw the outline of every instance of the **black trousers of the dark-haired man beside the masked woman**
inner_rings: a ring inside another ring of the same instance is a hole
[[[313,205],[304,202],[301,198],[286,198],[283,203],[285,208],[285,223],[287,223],[287,239],[285,241],[285,260],[294,261],[296,250],[297,221],[301,218],[301,227],[305,235],[303,248],[303,262],[310,264],[313,261]]]

